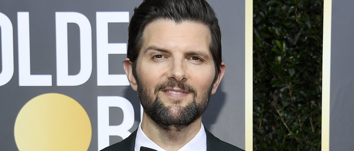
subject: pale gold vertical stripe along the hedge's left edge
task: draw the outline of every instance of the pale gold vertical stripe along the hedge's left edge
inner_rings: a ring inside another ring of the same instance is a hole
[[[253,148],[253,1],[245,0],[245,149]]]

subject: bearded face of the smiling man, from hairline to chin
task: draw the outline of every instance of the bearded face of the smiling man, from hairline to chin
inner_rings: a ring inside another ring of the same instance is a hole
[[[127,75],[145,113],[166,129],[194,122],[216,92],[221,79],[213,83],[210,39],[208,27],[200,23],[161,19],[145,27],[136,62],[138,79]]]

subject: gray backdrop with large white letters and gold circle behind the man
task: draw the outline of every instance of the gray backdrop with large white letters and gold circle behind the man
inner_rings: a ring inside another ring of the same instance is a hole
[[[203,124],[245,148],[245,1],[208,2],[227,70]],[[0,1],[0,150],[99,150],[138,127],[122,61],[141,3]]]

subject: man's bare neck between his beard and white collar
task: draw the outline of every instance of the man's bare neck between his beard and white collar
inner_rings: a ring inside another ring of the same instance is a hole
[[[149,139],[165,150],[178,150],[187,144],[199,132],[202,118],[183,129],[171,128],[165,130],[156,124],[148,115],[143,113],[142,130]]]

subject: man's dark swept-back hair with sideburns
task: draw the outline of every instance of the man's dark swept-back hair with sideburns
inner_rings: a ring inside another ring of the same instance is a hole
[[[220,72],[222,63],[221,32],[213,9],[205,0],[144,0],[134,9],[128,28],[127,58],[132,62],[132,71],[137,79],[136,59],[143,43],[145,26],[158,19],[166,19],[175,23],[190,21],[209,27],[211,42],[210,52],[215,64],[215,78]]]

